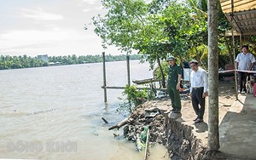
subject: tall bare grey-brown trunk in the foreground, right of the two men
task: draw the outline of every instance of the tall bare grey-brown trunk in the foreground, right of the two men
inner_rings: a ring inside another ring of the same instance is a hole
[[[208,0],[208,52],[208,148],[218,151],[218,0]]]

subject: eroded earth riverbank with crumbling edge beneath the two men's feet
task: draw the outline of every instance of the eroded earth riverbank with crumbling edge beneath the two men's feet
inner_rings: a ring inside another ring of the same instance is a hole
[[[182,100],[181,114],[170,113],[171,101],[168,97],[147,101],[137,106],[129,117],[132,120],[130,119],[131,121],[124,128],[124,135],[128,140],[136,142],[144,127],[148,126],[150,129],[149,144],[154,146],[160,143],[166,146],[169,157],[172,159],[247,159],[249,157],[246,155],[235,154],[235,148],[232,150],[227,147],[227,144],[232,141],[227,138],[227,134],[230,134],[230,126],[232,126],[229,122],[230,111],[239,112],[244,104],[236,101],[235,83],[220,82],[218,94],[221,145],[219,152],[207,150],[208,106],[206,106],[204,122],[194,123],[195,112],[189,97]],[[239,95],[240,100],[245,100],[245,96]]]

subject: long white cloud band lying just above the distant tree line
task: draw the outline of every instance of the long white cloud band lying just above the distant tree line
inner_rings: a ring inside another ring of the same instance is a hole
[[[37,56],[38,54],[53,55],[86,55],[86,54],[120,54],[114,47],[104,50],[100,45],[100,39],[94,38],[88,40],[66,40],[58,43],[38,43],[27,46],[20,46],[10,49],[0,49],[0,54]]]

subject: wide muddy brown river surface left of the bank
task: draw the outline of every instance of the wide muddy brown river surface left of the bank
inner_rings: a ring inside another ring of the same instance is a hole
[[[152,77],[148,63],[130,63],[131,80]],[[106,68],[108,86],[125,86],[125,61]],[[108,131],[127,114],[116,111],[122,89],[108,89],[103,102],[102,72],[102,63],[0,71],[0,158],[143,159],[122,129]],[[163,146],[152,152],[166,154]]]

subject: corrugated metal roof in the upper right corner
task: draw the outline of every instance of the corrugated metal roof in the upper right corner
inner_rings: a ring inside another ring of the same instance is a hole
[[[233,0],[233,16],[231,2],[220,0],[222,10],[232,26],[242,35],[256,35],[256,0]]]

